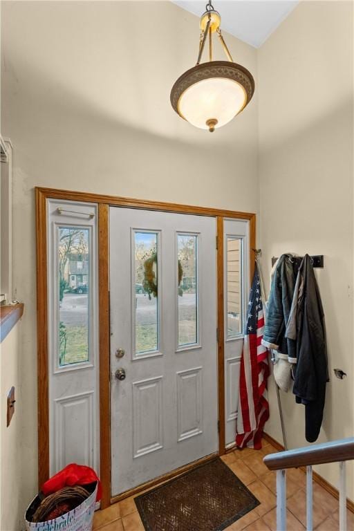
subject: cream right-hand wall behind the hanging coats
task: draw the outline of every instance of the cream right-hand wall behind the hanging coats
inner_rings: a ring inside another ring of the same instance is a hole
[[[318,442],[353,436],[353,3],[301,2],[259,50],[261,248],[324,254],[330,383]],[[333,369],[348,377],[337,380]],[[304,407],[281,393],[290,448],[307,445]],[[270,384],[266,431],[281,441]],[[337,485],[337,465],[318,467]],[[348,495],[354,499],[353,468]]]

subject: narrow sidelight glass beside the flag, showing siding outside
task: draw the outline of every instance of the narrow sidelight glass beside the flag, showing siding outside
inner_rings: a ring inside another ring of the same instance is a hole
[[[241,253],[242,240],[234,236],[226,239],[227,262],[227,339],[242,332],[241,312]]]

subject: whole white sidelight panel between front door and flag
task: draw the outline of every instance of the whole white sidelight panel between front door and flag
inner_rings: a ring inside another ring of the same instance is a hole
[[[225,444],[236,438],[243,323],[250,278],[248,221],[224,220]]]

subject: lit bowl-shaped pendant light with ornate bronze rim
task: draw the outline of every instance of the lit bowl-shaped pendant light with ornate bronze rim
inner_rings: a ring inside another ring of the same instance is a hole
[[[190,124],[212,132],[230,122],[250,102],[254,79],[246,68],[233,62],[221,35],[221,17],[211,2],[201,16],[196,66],[178,77],[171,90],[171,105]],[[227,61],[212,60],[213,33],[218,35]],[[201,63],[208,37],[209,61]]]

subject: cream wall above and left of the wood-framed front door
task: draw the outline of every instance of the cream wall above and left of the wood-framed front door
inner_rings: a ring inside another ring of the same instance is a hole
[[[257,212],[257,93],[237,120],[213,134],[178,118],[169,91],[196,62],[199,28],[194,15],[170,2],[5,1],[2,10],[2,132],[14,145],[14,287],[26,308],[19,367],[24,510],[37,490],[33,187]],[[226,39],[255,73],[256,50]]]

